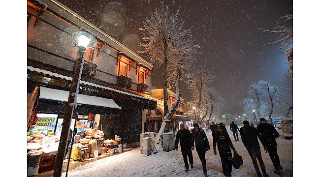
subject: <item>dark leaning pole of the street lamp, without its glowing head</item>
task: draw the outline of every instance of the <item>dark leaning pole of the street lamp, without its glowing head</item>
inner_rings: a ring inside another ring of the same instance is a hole
[[[80,80],[79,78],[81,78],[81,73],[82,73],[81,69],[83,67],[85,50],[86,50],[85,47],[78,46],[77,58],[73,66],[73,76],[72,76],[71,86],[69,89],[68,102],[65,106],[64,122],[63,122],[64,126],[62,127],[62,130],[61,130],[61,137],[60,137],[53,177],[61,177],[61,174],[62,174],[63,165],[64,165],[65,147],[67,144],[67,137],[69,134],[70,122],[71,122],[73,110],[74,110],[74,105],[72,103],[74,103],[74,96],[75,94],[77,94],[76,92],[78,91],[79,84],[80,84],[78,83],[78,81]]]

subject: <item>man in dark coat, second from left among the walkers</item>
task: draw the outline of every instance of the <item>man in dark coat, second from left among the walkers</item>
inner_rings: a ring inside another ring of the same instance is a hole
[[[192,140],[195,143],[196,152],[198,153],[198,156],[202,163],[203,175],[207,177],[208,175],[207,175],[206,151],[210,149],[209,141],[206,133],[199,128],[198,123],[194,123],[193,127],[194,128],[191,131]],[[192,145],[193,145],[193,141],[192,141]],[[194,146],[192,146],[191,148],[192,150],[194,150]]]

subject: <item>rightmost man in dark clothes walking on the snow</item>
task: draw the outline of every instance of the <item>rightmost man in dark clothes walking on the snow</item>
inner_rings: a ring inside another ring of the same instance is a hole
[[[261,136],[261,143],[263,145],[263,148],[265,152],[269,153],[270,159],[273,163],[273,166],[276,168],[276,171],[274,173],[283,176],[281,170],[283,169],[278,152],[277,152],[277,141],[276,138],[279,137],[279,133],[277,130],[274,128],[273,125],[267,123],[265,118],[260,118],[260,123],[257,126],[257,130],[259,135]]]

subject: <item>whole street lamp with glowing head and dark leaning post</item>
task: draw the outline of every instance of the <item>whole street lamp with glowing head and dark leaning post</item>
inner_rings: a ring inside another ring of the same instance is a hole
[[[69,89],[68,102],[65,106],[64,113],[64,126],[61,130],[61,137],[59,142],[59,148],[57,153],[57,159],[54,167],[53,177],[61,177],[63,164],[64,164],[64,153],[67,144],[67,138],[69,134],[70,122],[73,115],[74,108],[77,107],[77,95],[79,93],[80,79],[84,63],[84,51],[87,47],[93,47],[96,45],[96,39],[93,35],[85,31],[77,31],[72,34],[73,41],[78,45],[77,58],[73,66],[73,76],[71,86]],[[74,131],[74,130],[73,130]]]

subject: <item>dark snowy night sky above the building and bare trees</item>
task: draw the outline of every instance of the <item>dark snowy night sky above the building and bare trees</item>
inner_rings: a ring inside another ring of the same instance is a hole
[[[143,20],[162,1],[158,0],[60,0],[134,52]],[[286,58],[277,46],[265,46],[278,35],[257,28],[272,29],[279,18],[292,14],[292,0],[164,0],[172,11],[180,8],[186,28],[192,28],[201,46],[197,64],[214,70],[212,86],[225,98],[223,114],[242,115],[242,100],[251,82],[268,79],[279,82],[287,71]],[[147,59],[147,57],[142,56]],[[154,68],[153,85],[161,87],[161,69]],[[182,98],[191,101],[191,91],[182,86]]]

